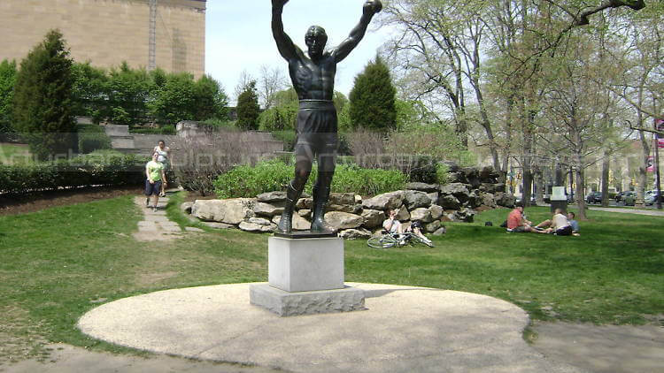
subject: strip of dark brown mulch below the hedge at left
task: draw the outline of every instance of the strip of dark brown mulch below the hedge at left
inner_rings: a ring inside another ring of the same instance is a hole
[[[142,194],[140,186],[97,186],[22,195],[0,195],[0,216],[25,214],[54,206]]]

